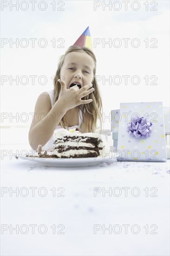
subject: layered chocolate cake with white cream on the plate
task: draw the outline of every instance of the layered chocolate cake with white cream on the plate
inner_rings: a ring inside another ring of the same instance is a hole
[[[101,135],[97,133],[80,133],[78,128],[57,129],[53,133],[54,150],[40,151],[39,157],[84,158],[102,155],[105,147]],[[50,154],[48,154],[50,153]]]

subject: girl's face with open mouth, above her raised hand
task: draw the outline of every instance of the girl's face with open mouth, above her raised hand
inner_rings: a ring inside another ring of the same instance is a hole
[[[92,83],[95,64],[92,57],[85,52],[71,52],[65,56],[61,68],[61,79],[69,89],[72,83],[78,83],[81,88]]]

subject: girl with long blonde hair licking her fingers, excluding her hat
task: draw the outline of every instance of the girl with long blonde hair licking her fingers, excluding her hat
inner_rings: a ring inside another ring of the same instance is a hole
[[[29,130],[34,150],[52,150],[53,132],[58,128],[96,131],[102,102],[95,73],[96,57],[89,48],[71,46],[60,57],[54,90],[40,94],[35,104]]]

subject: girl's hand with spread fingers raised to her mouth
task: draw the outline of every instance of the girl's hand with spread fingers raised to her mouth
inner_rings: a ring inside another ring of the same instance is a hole
[[[92,102],[92,99],[89,100],[81,100],[83,97],[87,96],[88,94],[91,94],[94,91],[94,88],[92,87],[92,83],[85,85],[82,88],[78,88],[78,86],[73,86],[69,89],[66,88],[65,81],[58,80],[61,84],[61,92],[59,94],[59,101],[64,104],[65,108],[67,110],[71,108],[75,108],[81,104],[88,104]],[[90,90],[88,90],[91,88]]]

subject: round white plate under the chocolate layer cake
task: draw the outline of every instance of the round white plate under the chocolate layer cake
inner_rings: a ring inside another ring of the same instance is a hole
[[[52,167],[82,167],[82,166],[92,166],[102,162],[107,162],[111,160],[111,157],[86,157],[86,158],[38,158],[33,156],[28,156],[26,158],[29,161],[38,163],[39,165],[52,166]]]

